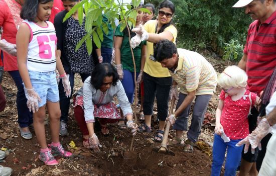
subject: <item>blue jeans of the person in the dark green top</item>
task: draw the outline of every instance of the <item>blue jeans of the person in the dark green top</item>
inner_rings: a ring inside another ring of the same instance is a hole
[[[136,72],[136,79],[139,75],[139,72]],[[123,69],[123,79],[121,80],[124,92],[126,97],[128,98],[128,102],[130,104],[133,103],[133,94],[135,89],[134,84],[134,72]]]

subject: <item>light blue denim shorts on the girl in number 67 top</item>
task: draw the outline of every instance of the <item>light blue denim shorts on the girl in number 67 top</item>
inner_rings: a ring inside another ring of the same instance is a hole
[[[58,84],[55,71],[38,72],[29,70],[29,75],[32,86],[41,99],[41,102],[38,102],[39,107],[46,105],[47,101],[54,103],[59,101]]]

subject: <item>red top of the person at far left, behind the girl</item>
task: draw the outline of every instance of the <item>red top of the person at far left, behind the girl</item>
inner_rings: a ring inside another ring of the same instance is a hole
[[[21,5],[14,0],[0,1],[0,26],[2,26],[3,34],[1,39],[7,42],[16,44],[17,29],[21,22],[20,18]],[[17,58],[10,54],[4,54],[4,70],[12,71],[18,70]]]

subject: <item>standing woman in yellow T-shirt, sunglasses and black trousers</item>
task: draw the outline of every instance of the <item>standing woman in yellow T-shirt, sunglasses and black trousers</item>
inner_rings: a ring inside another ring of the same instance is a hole
[[[176,42],[177,29],[173,25],[172,17],[175,13],[175,6],[171,1],[164,1],[160,4],[158,21],[150,20],[144,28],[135,28],[136,36],[131,39],[131,47],[140,43],[140,40],[147,40],[147,58],[144,67],[144,115],[145,124],[139,127],[139,132],[151,132],[151,118],[155,97],[157,99],[157,110],[159,119],[159,130],[155,141],[163,140],[165,120],[168,115],[168,101],[172,84],[172,77],[168,69],[163,68],[153,57],[154,48],[161,39],[168,39]]]

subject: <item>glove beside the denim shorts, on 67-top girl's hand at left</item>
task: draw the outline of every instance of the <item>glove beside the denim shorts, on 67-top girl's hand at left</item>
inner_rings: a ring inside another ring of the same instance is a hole
[[[26,89],[24,87],[25,96],[27,98],[27,107],[29,108],[30,112],[33,113],[38,111],[38,101],[41,102],[41,99],[38,93],[34,89]]]

